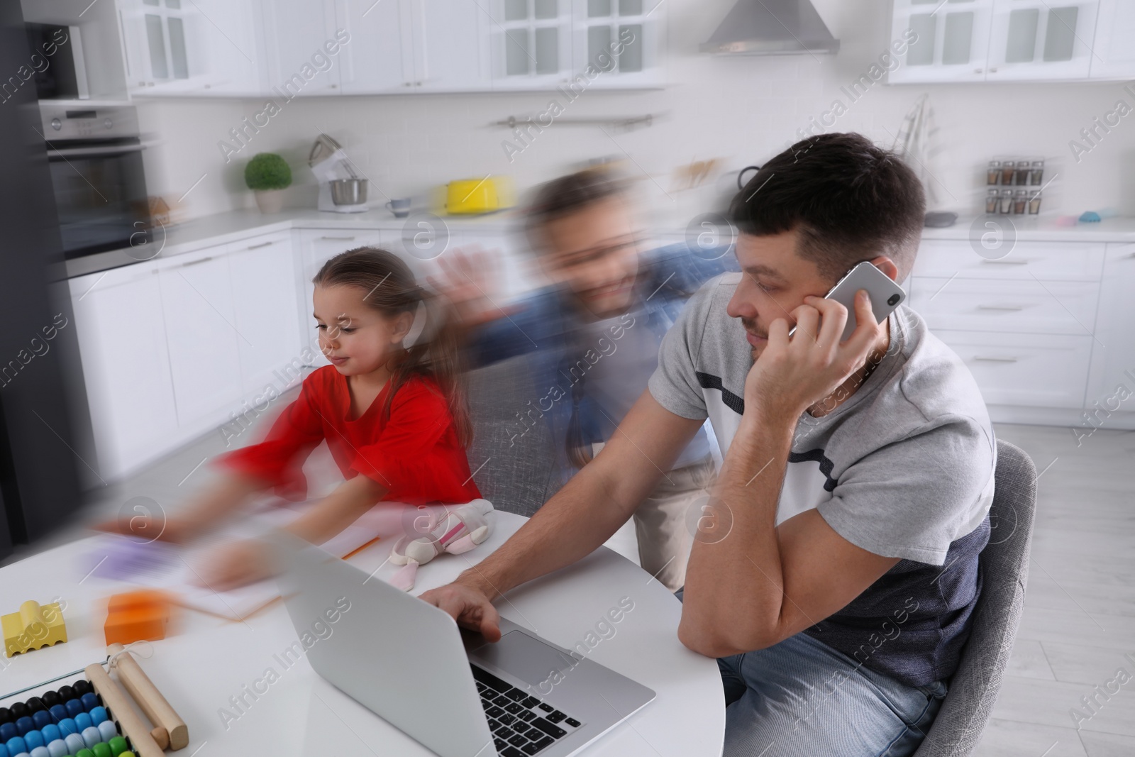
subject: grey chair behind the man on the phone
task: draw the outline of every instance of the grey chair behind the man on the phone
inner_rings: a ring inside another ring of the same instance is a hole
[[[990,542],[978,558],[982,595],[950,691],[915,757],[966,757],[989,722],[1025,607],[1036,511],[1036,466],[1023,449],[997,443]]]

